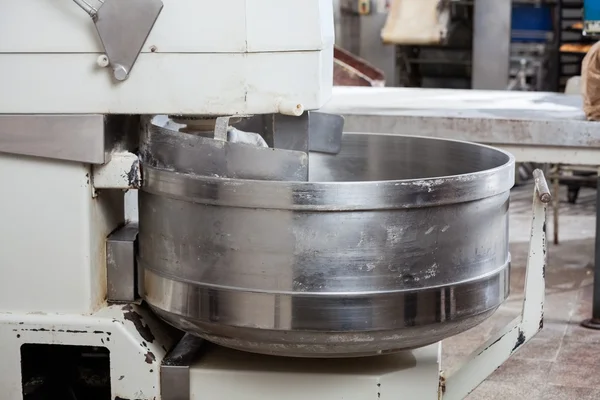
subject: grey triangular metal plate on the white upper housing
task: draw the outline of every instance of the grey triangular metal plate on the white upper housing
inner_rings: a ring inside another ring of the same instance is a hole
[[[73,0],[92,17],[117,81],[129,77],[162,8],[161,0]]]

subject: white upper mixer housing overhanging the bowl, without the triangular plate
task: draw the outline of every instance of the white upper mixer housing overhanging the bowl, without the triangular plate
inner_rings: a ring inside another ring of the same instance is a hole
[[[262,114],[329,99],[331,0],[163,3],[118,82],[72,0],[0,0],[0,113]]]

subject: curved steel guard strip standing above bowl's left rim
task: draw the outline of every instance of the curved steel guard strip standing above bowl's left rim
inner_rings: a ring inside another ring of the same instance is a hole
[[[184,133],[155,117],[144,130],[141,157],[148,166],[223,178],[301,180],[308,178],[308,155],[229,143]],[[158,125],[157,125],[158,124]]]

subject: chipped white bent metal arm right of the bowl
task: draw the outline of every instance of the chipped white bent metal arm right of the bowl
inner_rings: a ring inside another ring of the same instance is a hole
[[[533,172],[533,218],[521,315],[475,350],[440,383],[440,399],[464,399],[543,327],[546,269],[546,207],[550,190],[541,170]]]

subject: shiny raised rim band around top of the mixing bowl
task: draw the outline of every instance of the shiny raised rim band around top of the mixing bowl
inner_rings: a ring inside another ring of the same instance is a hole
[[[351,135],[372,135],[351,133]],[[503,165],[462,175],[386,181],[300,182],[232,179],[177,172],[142,163],[142,190],[179,200],[219,206],[351,211],[408,209],[480,200],[508,192],[514,185],[515,159],[506,151],[458,140],[403,136],[431,141],[452,141],[483,147],[506,156]],[[218,193],[218,195],[216,194]]]

